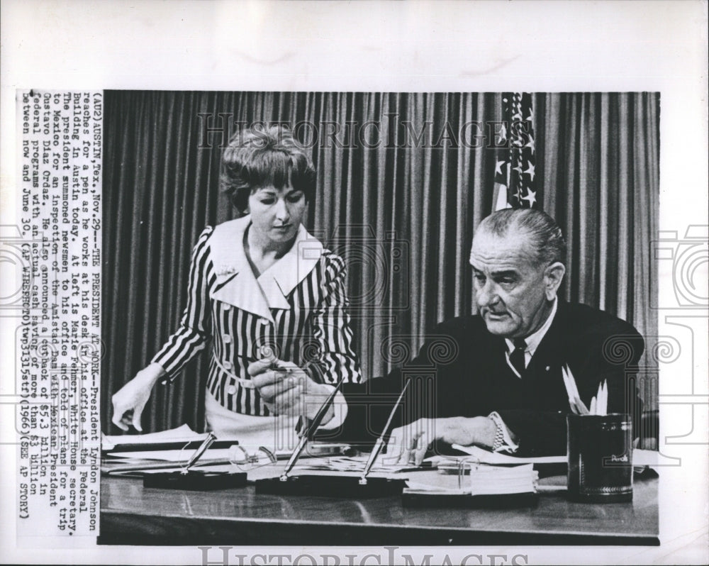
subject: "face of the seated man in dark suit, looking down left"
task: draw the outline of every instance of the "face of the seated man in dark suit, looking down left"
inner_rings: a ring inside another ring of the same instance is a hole
[[[492,334],[525,338],[545,323],[551,310],[545,294],[547,266],[534,265],[526,234],[476,233],[470,262],[475,300]]]

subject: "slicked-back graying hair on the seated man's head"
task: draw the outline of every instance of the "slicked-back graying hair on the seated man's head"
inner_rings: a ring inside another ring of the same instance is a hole
[[[535,253],[537,265],[566,263],[566,240],[562,229],[547,213],[537,209],[503,209],[493,212],[480,223],[476,233],[498,237],[510,231],[525,233],[529,249]]]

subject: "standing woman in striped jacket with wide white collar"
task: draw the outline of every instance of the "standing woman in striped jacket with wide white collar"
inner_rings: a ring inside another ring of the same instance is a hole
[[[293,445],[333,384],[362,381],[347,315],[345,265],[303,227],[316,173],[287,128],[250,129],[225,148],[220,186],[245,216],[208,226],[194,247],[179,328],[113,395],[113,423],[141,431],[158,380],[174,379],[211,340],[208,429],[242,445]],[[339,393],[323,420],[347,413]]]

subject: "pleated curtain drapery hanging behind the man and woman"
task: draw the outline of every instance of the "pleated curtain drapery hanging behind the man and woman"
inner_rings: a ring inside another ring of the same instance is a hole
[[[562,296],[657,333],[659,95],[535,94],[534,105],[542,208],[569,241]],[[106,91],[103,430],[117,430],[111,394],[177,327],[202,228],[236,216],[218,191],[230,126],[287,123],[311,151],[307,228],[347,261],[372,378],[413,355],[438,321],[474,311],[469,248],[493,206],[501,115],[494,93]],[[204,353],[156,387],[145,431],[201,429],[207,362]]]

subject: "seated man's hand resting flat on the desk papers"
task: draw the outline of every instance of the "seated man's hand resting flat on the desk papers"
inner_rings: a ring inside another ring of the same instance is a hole
[[[497,427],[486,416],[451,418],[419,418],[401,428],[391,431],[386,448],[386,460],[396,457],[399,464],[420,465],[426,450],[435,440],[462,446],[492,448]]]

